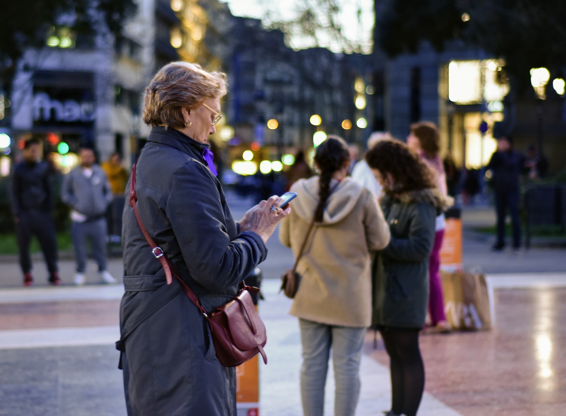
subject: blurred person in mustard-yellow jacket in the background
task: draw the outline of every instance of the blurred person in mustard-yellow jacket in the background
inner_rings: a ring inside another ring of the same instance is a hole
[[[119,242],[122,236],[122,213],[126,203],[124,192],[130,175],[122,165],[122,157],[119,153],[113,153],[100,167],[106,173],[113,195],[108,207],[109,238],[110,241]]]

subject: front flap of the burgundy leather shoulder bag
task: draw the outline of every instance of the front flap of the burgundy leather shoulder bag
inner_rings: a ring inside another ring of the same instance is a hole
[[[223,311],[226,315],[230,334],[235,346],[239,349],[250,350],[267,340],[265,325],[247,290],[240,290],[235,298],[218,310]]]

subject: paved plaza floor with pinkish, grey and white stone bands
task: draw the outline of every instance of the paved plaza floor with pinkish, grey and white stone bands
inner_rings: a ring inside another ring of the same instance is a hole
[[[249,201],[234,203],[235,217]],[[289,299],[278,277],[293,258],[274,235],[268,242],[260,314],[268,329],[269,364],[261,364],[261,415],[299,416],[301,348]],[[427,372],[420,416],[559,416],[566,414],[566,273],[564,250],[491,253],[488,243],[464,242],[468,267],[488,272],[494,289],[495,328],[486,332],[424,335]],[[18,265],[0,263],[0,415],[124,416],[117,368],[121,259],[109,262],[116,285],[98,284],[89,263],[88,284],[72,285],[74,263],[61,261],[65,285],[46,286],[36,261],[36,284],[21,287]],[[357,416],[389,408],[388,358],[368,332]],[[333,380],[325,416],[332,415]]]

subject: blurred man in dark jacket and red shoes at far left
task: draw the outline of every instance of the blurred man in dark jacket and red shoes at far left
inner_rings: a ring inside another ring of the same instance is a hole
[[[48,162],[41,160],[42,146],[37,139],[24,141],[23,160],[12,175],[12,212],[16,223],[20,267],[24,286],[33,284],[29,244],[33,235],[40,243],[47,264],[49,282],[61,284],[57,267],[57,235],[53,219],[53,192]]]

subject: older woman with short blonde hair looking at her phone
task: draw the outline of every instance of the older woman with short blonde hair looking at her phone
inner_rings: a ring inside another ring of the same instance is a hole
[[[272,196],[234,221],[207,143],[225,94],[225,74],[187,62],[161,68],[145,89],[143,119],[152,130],[135,171],[141,223],[207,311],[234,297],[290,212],[270,209],[281,203]],[[216,358],[207,320],[181,283],[166,284],[160,253],[152,254],[128,204],[122,241],[117,346],[128,415],[235,416],[234,368]]]

